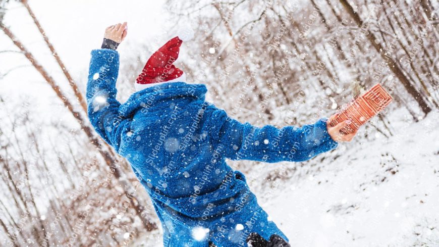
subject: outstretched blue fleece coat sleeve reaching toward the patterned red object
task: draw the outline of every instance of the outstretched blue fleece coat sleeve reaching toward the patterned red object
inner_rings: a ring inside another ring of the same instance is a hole
[[[210,137],[216,152],[231,160],[254,160],[267,163],[306,161],[318,154],[335,149],[326,129],[326,118],[300,128],[272,125],[255,127],[215,110],[210,117]]]

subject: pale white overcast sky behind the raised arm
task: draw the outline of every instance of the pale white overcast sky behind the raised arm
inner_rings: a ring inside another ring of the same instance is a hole
[[[29,1],[29,5],[74,79],[85,88],[90,51],[100,47],[105,27],[128,22],[128,36],[118,47],[121,61],[128,56],[126,51],[130,47],[144,42],[157,42],[157,39],[162,42],[169,38],[159,35],[170,25],[166,22],[167,13],[162,8],[163,2],[126,1],[122,4],[115,0],[33,0]],[[9,4],[4,22],[57,83],[69,90],[66,78],[23,5]],[[0,51],[18,51],[3,32],[0,32],[0,44]],[[11,69],[14,70],[0,79],[0,94],[11,98],[19,94],[33,95],[36,97],[34,106],[44,113],[44,109],[53,104],[56,98],[53,90],[24,55],[0,53],[0,72],[4,74]],[[50,115],[53,116],[53,112]]]

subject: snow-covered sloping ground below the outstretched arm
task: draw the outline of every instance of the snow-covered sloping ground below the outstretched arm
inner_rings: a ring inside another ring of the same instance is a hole
[[[439,112],[414,124],[403,110],[388,117],[389,139],[369,130],[374,140],[306,164],[252,163],[250,187],[292,246],[439,246]],[[287,179],[274,178],[285,168]],[[160,238],[132,246],[162,246]]]

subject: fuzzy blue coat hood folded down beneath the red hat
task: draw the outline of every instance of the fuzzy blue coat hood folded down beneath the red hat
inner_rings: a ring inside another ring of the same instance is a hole
[[[206,92],[207,88],[204,84],[186,82],[157,84],[131,94],[128,100],[119,107],[119,115],[131,117],[139,109],[154,108],[161,103],[183,97],[204,101]]]

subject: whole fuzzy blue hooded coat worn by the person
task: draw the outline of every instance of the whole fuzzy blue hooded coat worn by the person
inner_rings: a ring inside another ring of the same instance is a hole
[[[161,83],[116,100],[119,53],[91,51],[88,117],[148,191],[163,246],[247,246],[250,232],[287,236],[226,159],[306,161],[335,149],[326,119],[300,128],[241,123],[205,101],[204,84]]]

